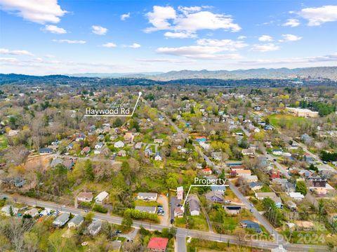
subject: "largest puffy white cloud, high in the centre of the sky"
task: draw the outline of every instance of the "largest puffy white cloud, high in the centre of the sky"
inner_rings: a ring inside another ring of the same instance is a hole
[[[177,13],[171,6],[153,6],[153,11],[146,14],[152,27],[147,27],[145,32],[171,30],[173,32],[169,33],[169,36],[166,33],[166,37],[182,38],[195,36],[194,34],[201,29],[225,29],[231,32],[241,29],[230,15],[202,11],[202,8],[180,6]]]

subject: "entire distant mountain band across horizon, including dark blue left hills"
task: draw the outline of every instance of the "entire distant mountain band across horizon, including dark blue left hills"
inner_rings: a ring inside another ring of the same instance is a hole
[[[81,79],[83,81],[90,81],[93,78],[100,79],[117,79],[117,78],[128,78],[128,79],[148,79],[151,81],[172,81],[179,79],[331,79],[333,81],[337,80],[337,67],[306,67],[306,68],[278,68],[278,69],[239,69],[233,71],[218,70],[181,70],[181,71],[171,71],[171,72],[140,72],[140,73],[129,73],[129,74],[118,74],[118,73],[85,73],[85,74],[56,74],[56,75],[46,75],[44,77],[25,75],[25,74],[0,74],[0,81],[2,84],[7,81],[32,81],[37,79],[44,79],[48,81],[61,81],[67,79],[68,81],[75,81],[76,79]]]

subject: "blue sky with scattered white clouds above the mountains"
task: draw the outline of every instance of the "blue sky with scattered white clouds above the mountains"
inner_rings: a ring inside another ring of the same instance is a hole
[[[336,63],[336,0],[0,0],[0,73]]]

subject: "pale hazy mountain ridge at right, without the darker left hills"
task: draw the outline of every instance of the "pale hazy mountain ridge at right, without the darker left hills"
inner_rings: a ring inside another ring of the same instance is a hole
[[[171,72],[143,72],[132,74],[71,74],[72,77],[98,78],[146,78],[152,80],[169,81],[173,79],[291,79],[291,78],[324,78],[337,79],[337,67],[305,67],[278,69],[239,69],[233,71],[218,70],[181,70]]]

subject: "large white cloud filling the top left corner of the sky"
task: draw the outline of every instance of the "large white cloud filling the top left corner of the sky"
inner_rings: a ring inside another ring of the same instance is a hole
[[[67,13],[57,0],[0,0],[0,8],[39,24],[60,22],[60,17]]]

